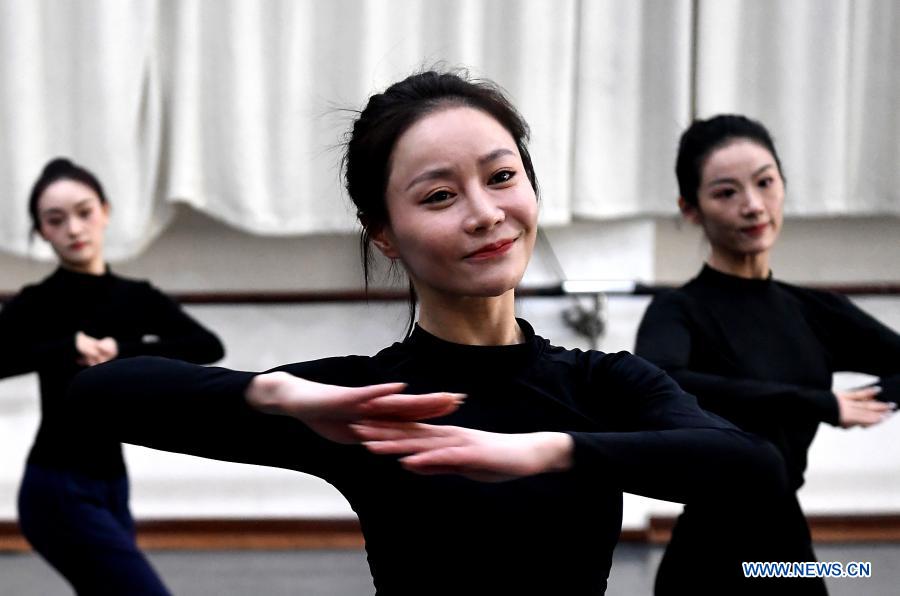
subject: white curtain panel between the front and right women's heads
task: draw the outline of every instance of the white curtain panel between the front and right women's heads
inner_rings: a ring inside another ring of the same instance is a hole
[[[586,1],[572,118],[572,215],[671,214],[690,120],[691,2]]]

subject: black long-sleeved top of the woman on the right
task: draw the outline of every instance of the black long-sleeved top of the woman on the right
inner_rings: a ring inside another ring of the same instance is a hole
[[[803,484],[819,422],[838,424],[832,373],[882,377],[879,399],[900,398],[900,335],[846,297],[708,265],[654,298],[635,352],[700,405],[772,441],[794,488]]]

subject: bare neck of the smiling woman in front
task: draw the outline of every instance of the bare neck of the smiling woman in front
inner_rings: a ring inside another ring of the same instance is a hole
[[[513,292],[489,298],[420,295],[419,326],[435,337],[458,344],[522,343]]]

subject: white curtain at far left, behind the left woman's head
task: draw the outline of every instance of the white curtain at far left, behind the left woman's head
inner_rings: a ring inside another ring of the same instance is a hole
[[[27,201],[44,164],[94,171],[112,205],[110,256],[139,251],[165,225],[157,199],[161,95],[156,5],[121,0],[0,3],[0,248],[29,242]]]

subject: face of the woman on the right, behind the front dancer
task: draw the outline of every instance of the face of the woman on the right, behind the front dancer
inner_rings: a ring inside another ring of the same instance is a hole
[[[703,227],[714,253],[744,258],[767,253],[781,231],[784,181],[768,149],[737,139],[714,150],[703,164],[698,206],[682,203]]]

